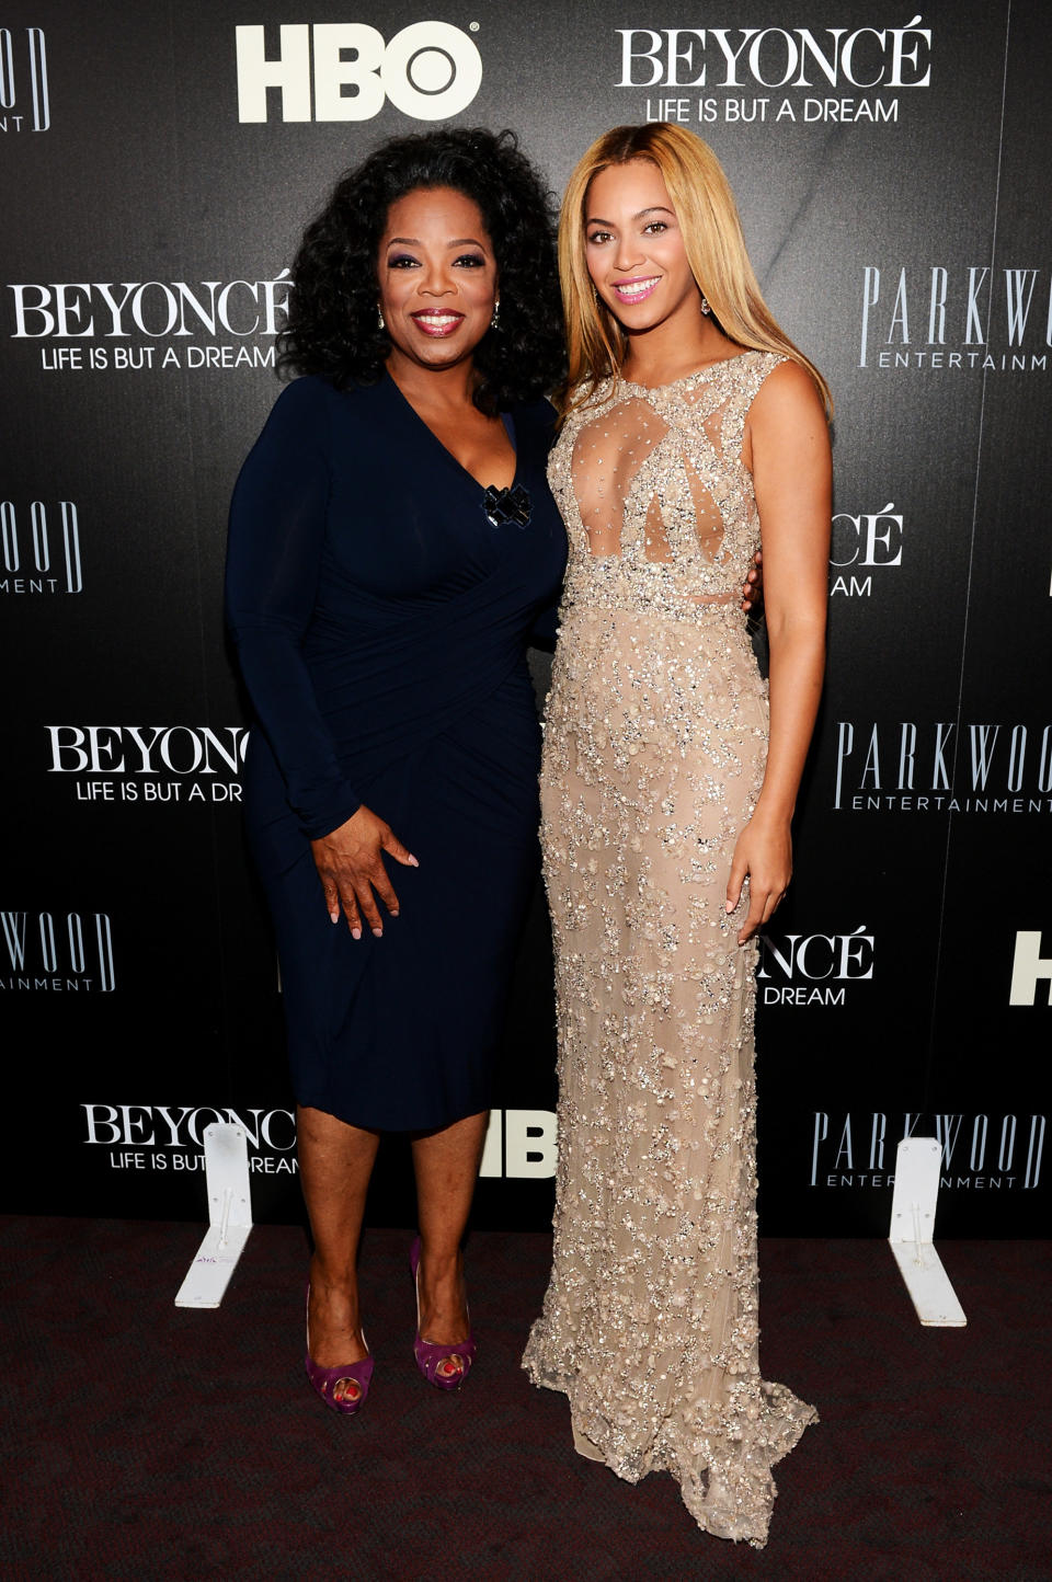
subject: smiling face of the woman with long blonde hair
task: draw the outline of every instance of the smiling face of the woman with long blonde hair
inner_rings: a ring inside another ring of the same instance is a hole
[[[585,263],[611,313],[631,332],[698,323],[701,291],[664,177],[652,160],[607,165],[584,204]]]

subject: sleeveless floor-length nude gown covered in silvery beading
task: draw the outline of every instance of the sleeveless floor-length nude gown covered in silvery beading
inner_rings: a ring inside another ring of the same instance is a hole
[[[574,1444],[668,1468],[698,1523],[763,1546],[770,1465],[815,1411],[759,1376],[747,902],[767,690],[739,609],[759,544],[747,351],[660,389],[600,386],[549,479],[570,571],[541,772],[558,997],[555,1248],[524,1357]]]

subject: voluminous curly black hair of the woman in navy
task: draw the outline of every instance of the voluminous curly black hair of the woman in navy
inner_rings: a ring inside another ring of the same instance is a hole
[[[391,353],[377,318],[377,255],[391,204],[452,187],[482,215],[500,275],[500,321],[475,351],[475,405],[492,416],[565,378],[555,201],[513,131],[446,127],[391,138],[337,182],[296,255],[278,370],[339,389],[375,384]]]

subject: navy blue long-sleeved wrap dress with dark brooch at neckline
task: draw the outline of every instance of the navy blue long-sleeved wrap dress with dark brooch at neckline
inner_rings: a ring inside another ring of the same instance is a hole
[[[566,555],[551,407],[506,422],[525,527],[490,525],[481,484],[388,375],[289,384],[234,490],[226,619],[258,718],[245,819],[293,1084],[356,1126],[432,1130],[490,1103],[538,865],[525,653]],[[380,940],[329,921],[310,853],[362,802],[419,861],[384,859],[400,916]]]

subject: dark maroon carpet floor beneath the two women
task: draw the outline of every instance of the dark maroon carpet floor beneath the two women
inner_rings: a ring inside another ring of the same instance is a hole
[[[481,1351],[448,1397],[413,1365],[410,1237],[370,1232],[351,1421],[304,1378],[302,1232],[253,1231],[217,1313],[172,1305],[199,1237],[0,1220],[3,1577],[1052,1579],[1044,1242],[941,1243],[963,1330],[918,1324],[881,1242],[761,1243],[764,1373],[823,1421],[756,1552],[701,1535],[668,1474],[577,1457],[527,1384],[549,1237],[471,1239]]]

